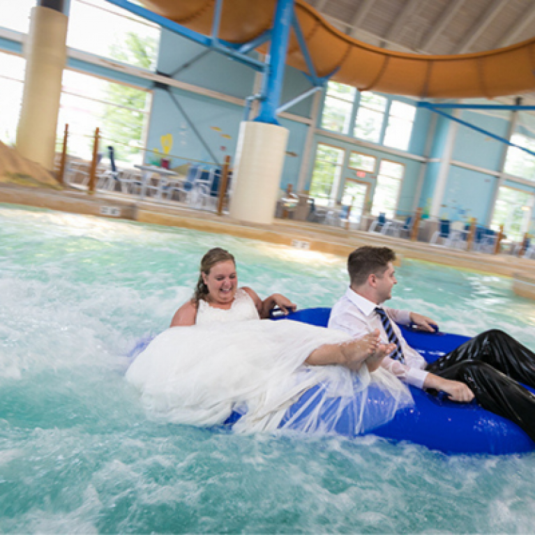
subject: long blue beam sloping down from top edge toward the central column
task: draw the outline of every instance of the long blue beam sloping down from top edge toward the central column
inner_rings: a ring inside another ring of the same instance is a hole
[[[179,36],[185,37],[186,39],[189,39],[193,41],[194,43],[197,43],[204,47],[209,47],[212,50],[215,50],[216,52],[220,52],[220,54],[225,54],[225,56],[229,56],[231,59],[234,59],[235,61],[239,61],[239,63],[243,63],[243,65],[246,65],[255,70],[258,70],[261,73],[264,72],[264,70],[266,70],[266,66],[262,61],[258,61],[257,59],[251,58],[250,56],[247,56],[246,54],[239,52],[241,45],[228,43],[227,41],[220,40],[217,37],[214,38],[213,36],[211,37],[204,36],[202,35],[202,33],[198,33],[197,31],[190,30],[182,26],[181,24],[177,24],[176,22],[173,22],[172,20],[169,20],[166,17],[162,17],[162,15],[158,15],[157,13],[154,13],[151,10],[143,8],[142,6],[137,6],[137,4],[132,3],[128,0],[107,0],[107,1],[110,3],[113,3],[115,6],[119,6],[120,8],[130,11],[130,13],[134,13],[135,15],[139,15],[140,17],[143,17],[146,20],[150,20],[151,22],[154,22],[155,24],[159,24],[161,27],[165,29],[173,31],[174,33],[178,33]],[[220,3],[221,3],[221,0],[218,0],[218,3],[216,4],[216,10],[221,9]],[[215,14],[213,27],[217,29],[218,25],[219,25],[218,17]]]

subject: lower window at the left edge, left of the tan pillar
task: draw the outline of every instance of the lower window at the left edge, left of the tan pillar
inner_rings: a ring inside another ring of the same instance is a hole
[[[26,60],[0,52],[0,140],[14,144],[17,136]]]

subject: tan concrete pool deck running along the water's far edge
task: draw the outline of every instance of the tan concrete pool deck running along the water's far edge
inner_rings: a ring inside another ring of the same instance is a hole
[[[191,209],[176,202],[140,200],[119,193],[100,192],[89,195],[75,189],[58,191],[1,184],[0,203],[229,234],[341,257],[347,257],[352,250],[363,245],[388,246],[404,258],[511,277],[516,293],[535,299],[535,260],[512,255],[467,253],[421,241],[382,236],[375,232],[347,231],[292,220],[277,219],[272,225],[255,225],[227,215],[218,216],[213,212]]]

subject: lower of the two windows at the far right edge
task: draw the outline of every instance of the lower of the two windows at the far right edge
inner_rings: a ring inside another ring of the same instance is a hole
[[[533,206],[534,195],[502,186],[498,190],[490,227],[499,230],[499,225],[504,225],[508,239],[521,241],[529,229]]]

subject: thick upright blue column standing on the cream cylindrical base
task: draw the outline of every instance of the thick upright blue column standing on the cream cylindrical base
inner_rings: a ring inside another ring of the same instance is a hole
[[[292,14],[294,0],[278,0],[273,17],[271,31],[271,47],[269,49],[269,69],[264,73],[262,95],[264,100],[260,104],[260,112],[255,121],[260,123],[277,124],[277,108],[282,93],[282,82],[286,54],[289,43],[289,32],[292,28]]]

